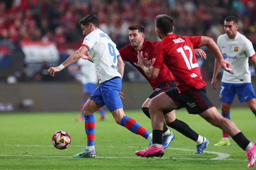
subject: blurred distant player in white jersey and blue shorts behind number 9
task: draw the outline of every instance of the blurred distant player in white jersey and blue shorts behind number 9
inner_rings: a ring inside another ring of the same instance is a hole
[[[83,100],[81,104],[81,115],[76,118],[76,121],[84,121],[84,115],[82,112],[83,106],[89,99],[90,95],[96,88],[98,83],[98,76],[95,67],[88,59],[78,59],[76,67],[69,67],[69,71],[81,71],[81,83],[83,84]],[[100,113],[99,120],[104,120],[106,114],[102,108],[98,110]]]

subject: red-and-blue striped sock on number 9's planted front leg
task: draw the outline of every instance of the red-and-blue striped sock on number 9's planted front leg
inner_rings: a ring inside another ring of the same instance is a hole
[[[85,133],[87,136],[87,146],[94,146],[95,125],[94,114],[85,115]]]

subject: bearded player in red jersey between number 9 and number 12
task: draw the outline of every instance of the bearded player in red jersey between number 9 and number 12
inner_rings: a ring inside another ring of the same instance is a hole
[[[119,53],[124,61],[128,61],[137,68],[140,73],[148,80],[154,92],[150,94],[147,100],[142,105],[142,110],[144,114],[150,118],[149,114],[149,102],[156,95],[160,94],[171,88],[176,88],[176,82],[174,80],[173,75],[167,68],[167,66],[163,66],[157,78],[154,80],[150,79],[147,75],[145,75],[144,71],[138,65],[137,51],[143,51],[143,56],[147,58],[147,65],[150,65],[152,61],[152,57],[154,54],[154,48],[159,41],[147,41],[144,40],[145,37],[145,29],[141,25],[131,25],[128,27],[129,31],[129,40],[130,44],[126,45],[124,48],[119,50]],[[205,53],[201,49],[197,49],[197,54],[201,55],[205,58]],[[164,110],[163,114],[169,113],[170,110]],[[175,110],[170,112],[169,116],[166,117],[165,122],[168,126],[173,129],[176,129],[180,133],[184,134],[188,138],[197,142],[197,145],[201,145],[203,142],[203,137],[199,134],[195,133],[185,122],[182,122],[176,119]],[[174,134],[168,130],[166,124],[163,125],[163,145],[164,148],[167,148],[170,145],[170,142],[175,137]],[[201,154],[203,150],[197,150],[195,153]]]

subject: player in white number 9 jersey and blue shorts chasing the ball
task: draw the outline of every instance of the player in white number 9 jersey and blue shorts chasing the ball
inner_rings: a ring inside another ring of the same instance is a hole
[[[129,129],[135,134],[139,134],[152,142],[152,133],[140,126],[135,120],[125,116],[123,104],[119,95],[125,64],[116,49],[116,44],[111,38],[99,29],[99,20],[95,15],[88,15],[79,21],[85,39],[81,47],[69,58],[57,67],[50,67],[48,72],[51,76],[61,71],[80,58],[93,61],[99,76],[100,85],[97,87],[83,107],[85,115],[85,132],[87,136],[87,146],[73,158],[92,158],[96,156],[94,148],[95,118],[93,113],[106,105],[112,113],[115,121]],[[92,56],[90,56],[90,53]]]

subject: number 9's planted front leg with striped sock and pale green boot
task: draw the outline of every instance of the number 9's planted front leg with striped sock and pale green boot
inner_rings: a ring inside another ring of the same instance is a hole
[[[95,134],[95,117],[96,112],[101,105],[97,104],[94,100],[88,99],[83,107],[83,114],[85,116],[85,133],[87,136],[87,145],[80,153],[73,156],[73,158],[94,158],[96,151],[94,148],[94,134]]]

